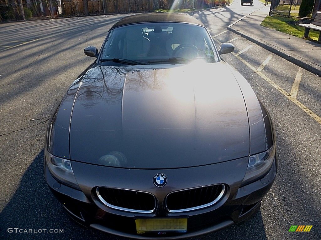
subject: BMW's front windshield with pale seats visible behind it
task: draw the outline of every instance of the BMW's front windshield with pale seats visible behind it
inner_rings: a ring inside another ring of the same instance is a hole
[[[217,62],[204,27],[177,22],[140,23],[109,31],[100,62],[118,64],[184,64],[203,59]]]

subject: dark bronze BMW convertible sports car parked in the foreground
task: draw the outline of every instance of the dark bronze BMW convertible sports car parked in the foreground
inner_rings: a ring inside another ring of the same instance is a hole
[[[191,16],[126,17],[52,115],[45,178],[83,226],[175,239],[254,216],[277,169],[268,111]]]

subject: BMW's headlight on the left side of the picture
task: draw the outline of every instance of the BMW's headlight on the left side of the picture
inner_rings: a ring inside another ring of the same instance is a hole
[[[53,156],[45,149],[46,162],[50,173],[59,181],[80,190],[70,160]]]

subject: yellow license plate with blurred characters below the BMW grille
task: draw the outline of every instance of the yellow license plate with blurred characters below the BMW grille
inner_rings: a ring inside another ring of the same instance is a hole
[[[143,218],[136,219],[137,233],[186,232],[187,218]]]

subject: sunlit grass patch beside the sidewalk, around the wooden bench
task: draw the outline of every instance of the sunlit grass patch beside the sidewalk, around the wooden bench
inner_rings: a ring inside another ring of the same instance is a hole
[[[298,20],[297,18],[291,18],[291,17],[283,18],[283,17],[277,17],[277,16],[273,16],[273,17],[267,16],[261,23],[261,26],[265,28],[278,30],[282,33],[287,33],[292,36],[303,38],[305,28],[290,23],[291,21],[297,21],[297,20]],[[319,37],[319,32],[310,29],[308,40],[317,41],[318,37]]]

